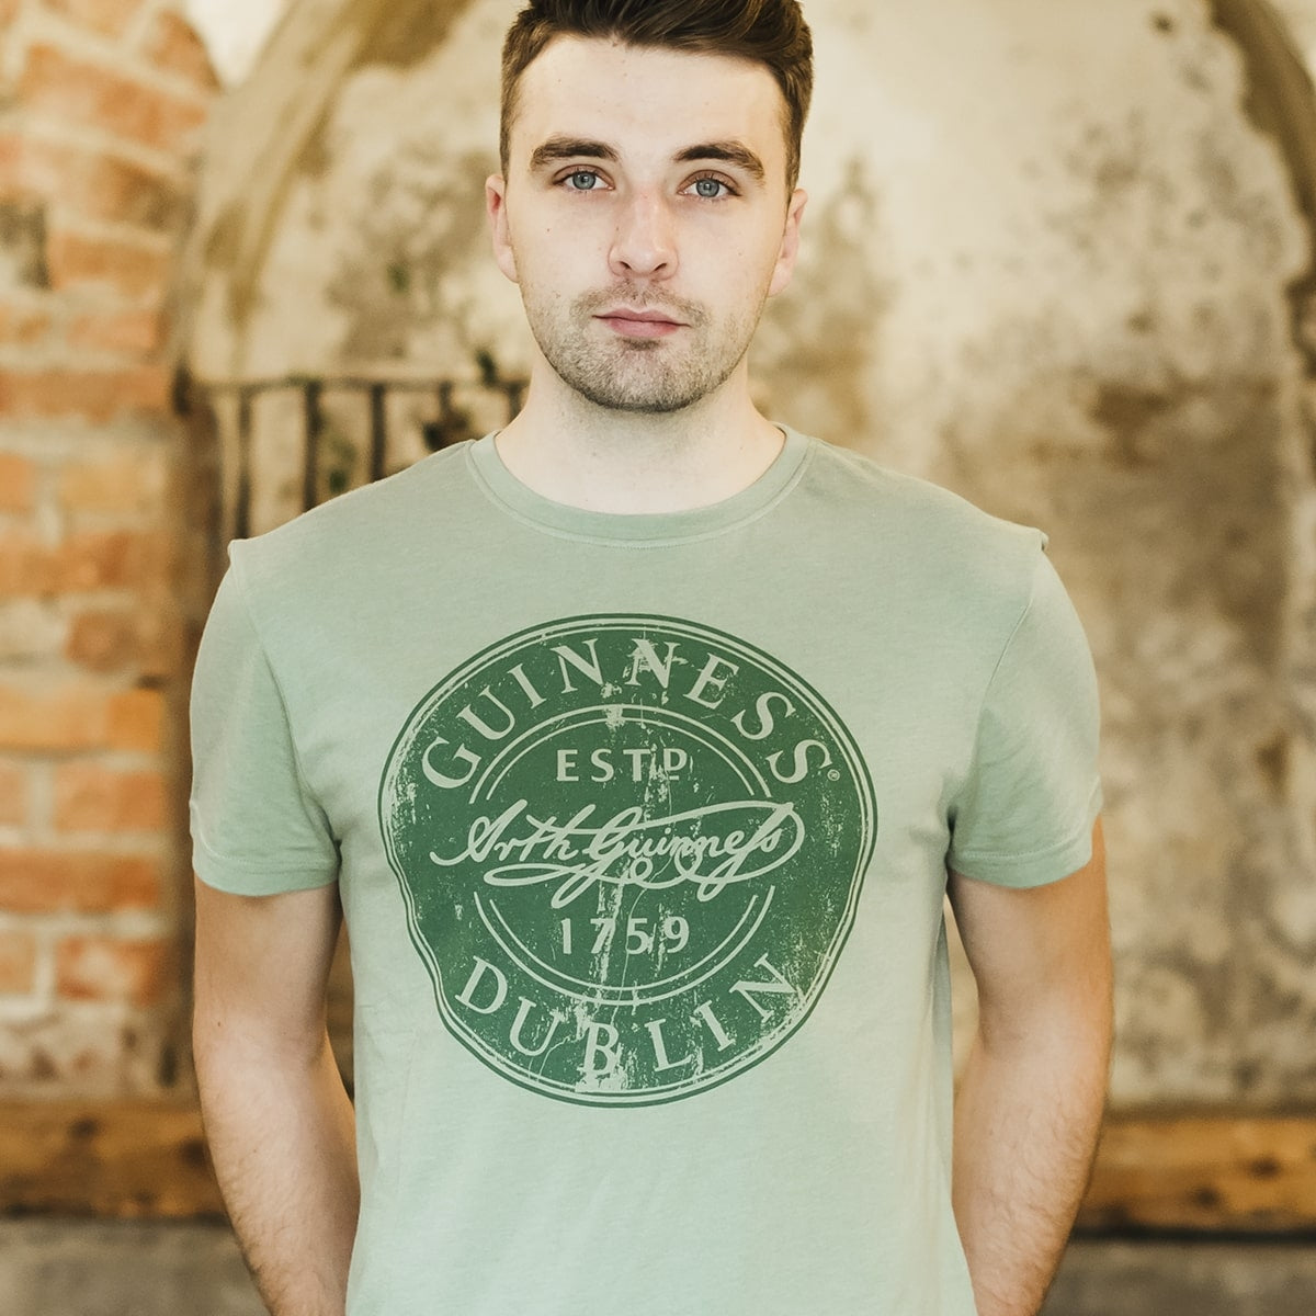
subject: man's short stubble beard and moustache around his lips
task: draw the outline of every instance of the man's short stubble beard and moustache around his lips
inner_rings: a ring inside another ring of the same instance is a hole
[[[619,305],[662,311],[684,328],[670,338],[612,334],[595,317]],[[758,325],[751,315],[711,330],[712,317],[696,303],[634,290],[587,293],[565,313],[529,305],[526,312],[540,351],[569,388],[604,411],[647,416],[684,411],[721,388]]]

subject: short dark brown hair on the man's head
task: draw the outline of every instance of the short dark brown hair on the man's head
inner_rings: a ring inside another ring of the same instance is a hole
[[[794,190],[813,95],[813,37],[799,0],[530,0],[503,43],[504,174],[521,75],[555,37],[604,37],[765,64],[786,97],[786,175]]]

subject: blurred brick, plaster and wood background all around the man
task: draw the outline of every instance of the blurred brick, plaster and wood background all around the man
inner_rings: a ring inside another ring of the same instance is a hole
[[[188,672],[230,538],[520,405],[517,8],[0,0],[0,1316],[261,1311],[188,1057]],[[804,8],[761,405],[1048,530],[1101,679],[1119,1042],[1048,1313],[1311,1316],[1316,0]],[[332,1013],[350,1082],[343,957]]]

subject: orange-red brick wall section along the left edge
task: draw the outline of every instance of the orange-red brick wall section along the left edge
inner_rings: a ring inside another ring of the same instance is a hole
[[[0,1098],[176,1078],[201,569],[168,297],[216,92],[163,0],[0,0]]]

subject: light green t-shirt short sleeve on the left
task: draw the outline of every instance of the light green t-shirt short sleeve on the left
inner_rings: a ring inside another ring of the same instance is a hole
[[[301,775],[283,696],[232,569],[201,636],[191,725],[197,876],[237,895],[334,882],[338,848]]]

